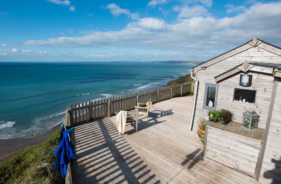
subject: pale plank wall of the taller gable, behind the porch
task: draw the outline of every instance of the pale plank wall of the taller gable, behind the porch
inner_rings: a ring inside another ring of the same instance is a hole
[[[226,53],[227,55],[228,53]],[[197,72],[197,79],[199,80],[198,86],[198,97],[195,110],[195,117],[193,123],[193,130],[197,130],[197,120],[200,118],[208,118],[208,110],[203,109],[205,84],[211,83],[216,84],[214,77],[234,68],[235,66],[242,64],[245,60],[248,62],[266,62],[266,63],[277,63],[281,64],[281,57],[260,47],[252,47],[236,55],[229,56],[222,61],[219,61],[211,66],[208,66],[204,70],[199,70]],[[232,92],[233,93],[233,92]],[[260,93],[262,94],[262,92]],[[268,94],[266,94],[268,97]],[[262,118],[263,119],[263,118]],[[242,121],[242,119],[241,119]],[[240,122],[240,120],[238,121]],[[262,124],[262,123],[261,123]]]

